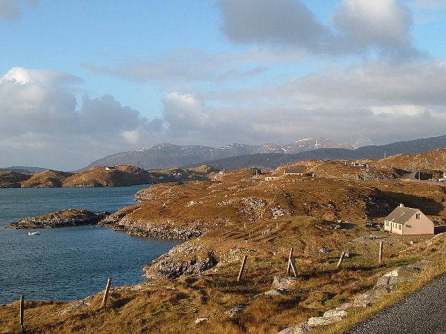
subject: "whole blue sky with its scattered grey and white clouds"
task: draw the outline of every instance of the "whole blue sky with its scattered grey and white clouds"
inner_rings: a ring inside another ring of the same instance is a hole
[[[446,0],[0,0],[0,167],[446,134]]]

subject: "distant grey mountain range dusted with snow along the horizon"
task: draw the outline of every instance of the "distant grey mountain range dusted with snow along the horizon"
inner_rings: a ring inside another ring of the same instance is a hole
[[[360,148],[325,138],[307,138],[289,145],[230,144],[222,148],[162,143],[140,150],[109,155],[93,161],[82,170],[117,164],[138,166],[146,170],[192,168],[202,164],[229,170],[245,167],[274,169],[307,159],[381,159],[394,154],[413,154],[436,148],[446,148],[446,135]]]

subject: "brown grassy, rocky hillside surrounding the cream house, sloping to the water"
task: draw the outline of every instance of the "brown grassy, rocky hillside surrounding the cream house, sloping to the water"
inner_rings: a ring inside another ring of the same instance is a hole
[[[107,308],[100,306],[101,293],[72,303],[29,301],[27,330],[277,333],[348,304],[345,319],[311,332],[342,333],[444,272],[443,234],[398,237],[380,231],[383,218],[401,202],[420,208],[437,232],[444,230],[446,184],[408,178],[407,173],[412,166],[421,167],[420,161],[429,161],[423,164],[426,173],[443,170],[443,152],[394,160],[307,160],[268,174],[256,168],[213,170],[209,180],[143,189],[138,204],[101,224],[144,237],[188,240],[144,268],[151,280],[112,287]],[[285,175],[291,167],[304,173]],[[384,261],[378,264],[380,241]],[[286,275],[291,248],[298,275],[284,278],[292,275]],[[337,269],[342,252],[349,256]],[[243,277],[237,280],[245,255]],[[429,269],[421,267],[423,261]],[[413,269],[415,283],[403,283],[396,292],[380,290],[384,301],[368,300],[376,303],[372,308],[352,306],[383,273],[404,266],[418,268]],[[16,333],[15,306],[0,307],[0,326],[10,333]]]

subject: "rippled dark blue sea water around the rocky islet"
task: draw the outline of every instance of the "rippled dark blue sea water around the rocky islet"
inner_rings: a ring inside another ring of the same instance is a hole
[[[116,212],[135,204],[146,186],[0,189],[0,303],[20,299],[72,301],[105,289],[144,280],[143,267],[180,244],[132,237],[109,228],[29,230],[4,228],[21,218],[61,209]]]

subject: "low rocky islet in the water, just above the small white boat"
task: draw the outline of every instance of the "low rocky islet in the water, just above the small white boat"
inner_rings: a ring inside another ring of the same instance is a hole
[[[98,223],[98,221],[108,215],[108,212],[66,209],[52,214],[23,218],[20,221],[6,225],[6,228],[63,228],[66,226],[91,225]]]

